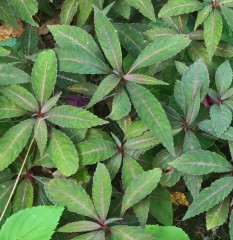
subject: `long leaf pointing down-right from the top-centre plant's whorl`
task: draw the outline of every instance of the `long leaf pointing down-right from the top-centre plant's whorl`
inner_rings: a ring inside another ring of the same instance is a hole
[[[133,105],[150,132],[174,154],[173,137],[166,114],[152,93],[135,83],[127,83]]]

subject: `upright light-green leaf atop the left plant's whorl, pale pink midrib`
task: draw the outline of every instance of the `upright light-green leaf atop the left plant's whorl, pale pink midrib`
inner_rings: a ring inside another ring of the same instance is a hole
[[[32,87],[40,106],[48,100],[57,78],[57,59],[53,50],[39,54],[32,69]]]

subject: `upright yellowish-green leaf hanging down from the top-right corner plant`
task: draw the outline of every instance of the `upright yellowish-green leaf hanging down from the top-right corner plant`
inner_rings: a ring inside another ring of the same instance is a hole
[[[222,34],[222,28],[222,17],[218,10],[211,12],[204,22],[204,39],[210,60],[217,49]]]

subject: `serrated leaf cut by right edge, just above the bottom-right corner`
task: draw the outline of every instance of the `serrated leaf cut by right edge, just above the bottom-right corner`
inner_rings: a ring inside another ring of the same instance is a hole
[[[192,202],[183,220],[209,210],[221,202],[233,189],[233,178],[223,177],[205,188]]]

